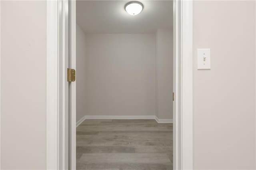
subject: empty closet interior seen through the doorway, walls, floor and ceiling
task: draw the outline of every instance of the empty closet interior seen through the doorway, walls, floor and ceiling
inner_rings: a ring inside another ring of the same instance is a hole
[[[172,1],[128,3],[76,2],[77,169],[172,168]]]

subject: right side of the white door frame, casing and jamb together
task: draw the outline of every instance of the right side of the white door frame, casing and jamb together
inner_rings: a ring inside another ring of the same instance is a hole
[[[174,0],[176,62],[174,168],[193,169],[193,1]],[[179,16],[180,15],[180,16]],[[180,28],[179,28],[180,27]]]

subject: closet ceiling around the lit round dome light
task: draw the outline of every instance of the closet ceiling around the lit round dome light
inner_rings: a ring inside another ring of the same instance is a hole
[[[76,22],[88,33],[153,33],[158,28],[172,28],[172,1],[140,1],[144,5],[136,16],[124,10],[126,0],[78,0]]]

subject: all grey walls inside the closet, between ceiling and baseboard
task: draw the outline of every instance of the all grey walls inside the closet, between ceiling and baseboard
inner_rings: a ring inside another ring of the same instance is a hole
[[[172,119],[172,30],[84,34],[77,25],[77,121],[84,115]]]

